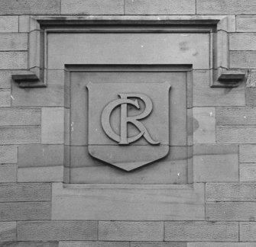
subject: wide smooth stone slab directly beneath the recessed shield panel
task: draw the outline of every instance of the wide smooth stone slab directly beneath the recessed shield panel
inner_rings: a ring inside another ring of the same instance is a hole
[[[205,218],[203,184],[195,184],[193,188],[188,184],[69,186],[71,188],[63,188],[61,183],[53,184],[53,220],[154,221]]]

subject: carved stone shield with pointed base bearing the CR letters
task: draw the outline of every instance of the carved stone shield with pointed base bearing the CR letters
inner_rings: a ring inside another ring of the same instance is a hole
[[[169,91],[164,83],[89,83],[88,149],[131,171],[169,152]]]

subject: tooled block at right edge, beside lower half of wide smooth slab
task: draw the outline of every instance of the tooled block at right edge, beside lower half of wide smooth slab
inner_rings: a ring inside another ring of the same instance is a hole
[[[206,204],[206,220],[256,221],[256,202],[213,202]]]

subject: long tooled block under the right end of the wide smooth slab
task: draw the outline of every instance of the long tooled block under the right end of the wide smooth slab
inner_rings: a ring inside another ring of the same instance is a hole
[[[164,229],[165,241],[238,241],[238,223],[167,221]]]

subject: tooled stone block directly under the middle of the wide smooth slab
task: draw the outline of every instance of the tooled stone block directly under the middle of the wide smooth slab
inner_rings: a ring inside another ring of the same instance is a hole
[[[107,241],[161,241],[164,223],[157,221],[100,221],[99,240]]]

